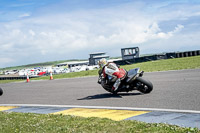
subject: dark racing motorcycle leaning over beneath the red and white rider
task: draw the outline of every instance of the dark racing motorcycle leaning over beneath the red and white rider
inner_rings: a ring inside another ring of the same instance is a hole
[[[142,76],[144,71],[140,72],[140,68],[131,69],[126,71],[125,77],[121,80],[121,84],[117,91],[112,92],[112,86],[115,83],[113,77],[107,75],[106,78],[103,77],[101,70],[99,71],[98,83],[108,92],[117,94],[118,92],[129,92],[133,90],[138,90],[144,94],[150,93],[153,90],[153,84],[144,79]]]

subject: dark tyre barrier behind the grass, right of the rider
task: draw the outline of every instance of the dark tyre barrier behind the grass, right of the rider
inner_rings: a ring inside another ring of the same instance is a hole
[[[128,65],[128,64],[139,63],[139,62],[170,59],[170,58],[183,58],[183,57],[198,56],[198,55],[200,55],[200,50],[156,54],[156,55],[144,56],[144,57],[133,58],[133,59],[128,59],[128,60],[118,60],[114,62],[118,65]]]

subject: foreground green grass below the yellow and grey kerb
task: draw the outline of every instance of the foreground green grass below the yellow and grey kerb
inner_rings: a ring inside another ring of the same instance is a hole
[[[64,115],[0,112],[2,133],[199,133],[197,128],[138,121],[113,121],[106,118],[83,118]]]

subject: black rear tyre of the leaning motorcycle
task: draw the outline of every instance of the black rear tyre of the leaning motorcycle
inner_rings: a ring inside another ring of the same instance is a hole
[[[137,77],[136,82],[138,91],[144,94],[150,93],[153,90],[153,84],[149,80],[143,79],[142,77]]]

